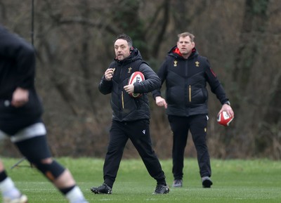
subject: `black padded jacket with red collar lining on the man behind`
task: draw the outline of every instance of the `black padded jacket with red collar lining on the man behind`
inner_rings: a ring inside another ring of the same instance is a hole
[[[166,81],[166,114],[182,117],[208,114],[207,83],[221,104],[228,101],[209,61],[199,55],[196,48],[193,48],[191,55],[185,59],[174,46],[166,55],[157,74],[162,84]],[[161,91],[157,89],[152,94],[155,98],[161,96]]]

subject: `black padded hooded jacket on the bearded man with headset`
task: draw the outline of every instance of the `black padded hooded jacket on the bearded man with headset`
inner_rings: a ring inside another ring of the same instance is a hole
[[[131,55],[124,60],[115,59],[108,68],[115,68],[113,77],[107,81],[103,76],[98,89],[103,94],[111,93],[112,119],[119,122],[150,119],[148,93],[158,89],[161,81],[151,67],[143,61],[138,49],[133,48]],[[133,98],[124,91],[129,77],[136,71],[142,72],[145,77],[144,81],[133,84],[134,93],[142,93],[139,98]]]

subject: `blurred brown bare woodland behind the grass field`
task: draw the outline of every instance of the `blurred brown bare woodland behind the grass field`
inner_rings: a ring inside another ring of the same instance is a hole
[[[61,0],[34,1],[37,89],[54,155],[103,156],[111,121],[110,96],[98,91],[115,57],[113,40],[129,34],[157,71],[177,34],[195,34],[230,98],[235,119],[216,123],[221,107],[209,96],[213,157],[281,157],[280,1]],[[1,24],[31,41],[31,1],[0,0]],[[150,98],[155,150],[171,156],[165,111]],[[3,144],[7,155],[17,155]],[[136,151],[127,145],[128,157]],[[186,154],[195,150],[188,142]]]

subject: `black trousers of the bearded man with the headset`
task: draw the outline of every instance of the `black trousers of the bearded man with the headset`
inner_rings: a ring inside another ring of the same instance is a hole
[[[139,155],[141,155],[141,159],[143,159],[143,163],[146,169],[148,169],[150,176],[155,178],[159,184],[166,183],[162,166],[155,151],[152,150],[149,123],[150,121],[148,119],[141,119],[134,122],[112,121],[110,141],[103,166],[104,181],[111,188],[115,182],[128,139],[131,140],[136,150],[138,150]]]

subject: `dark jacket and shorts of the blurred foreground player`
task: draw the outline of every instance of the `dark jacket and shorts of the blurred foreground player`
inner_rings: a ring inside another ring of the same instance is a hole
[[[0,25],[0,129],[15,133],[13,126],[25,127],[38,122],[43,112],[34,88],[35,54],[27,41]],[[29,91],[29,101],[22,107],[11,106],[16,88]]]

